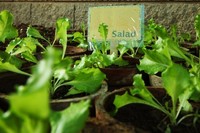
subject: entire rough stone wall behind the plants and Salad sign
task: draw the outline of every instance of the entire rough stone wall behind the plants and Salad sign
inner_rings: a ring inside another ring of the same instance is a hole
[[[3,2],[4,1],[4,2]],[[14,2],[11,2],[14,1]],[[31,2],[32,1],[32,2]],[[0,0],[0,11],[7,9],[14,15],[15,24],[43,25],[54,27],[59,17],[68,17],[72,21],[72,29],[79,29],[81,23],[87,24],[89,7],[107,5],[145,5],[145,22],[153,18],[157,23],[169,27],[178,24],[181,32],[194,33],[194,17],[200,13],[200,3],[180,2],[180,0],[138,0],[116,2],[79,2],[75,0]],[[100,1],[100,0],[99,0]],[[154,2],[152,2],[154,1]],[[162,2],[161,2],[162,1]],[[176,2],[171,2],[176,1]],[[190,0],[188,0],[190,1]]]

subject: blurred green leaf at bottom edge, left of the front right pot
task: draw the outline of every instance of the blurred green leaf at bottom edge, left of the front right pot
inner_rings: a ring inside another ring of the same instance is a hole
[[[51,133],[78,133],[85,125],[89,116],[90,101],[71,103],[70,106],[60,112],[51,114]]]

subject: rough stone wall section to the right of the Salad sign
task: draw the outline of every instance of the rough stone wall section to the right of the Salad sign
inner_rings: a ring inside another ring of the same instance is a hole
[[[166,27],[177,24],[179,32],[194,35],[194,17],[200,11],[200,3],[145,4],[145,21],[153,18]]]

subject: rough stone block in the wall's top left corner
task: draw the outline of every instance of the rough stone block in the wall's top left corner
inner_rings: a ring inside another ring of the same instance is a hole
[[[14,16],[14,24],[30,24],[31,3],[0,2],[0,11],[8,10]]]

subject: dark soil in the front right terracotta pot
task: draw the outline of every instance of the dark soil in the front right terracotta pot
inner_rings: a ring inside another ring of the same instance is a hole
[[[132,125],[138,129],[150,131],[151,133],[164,133],[166,123],[169,123],[166,115],[152,107],[141,104],[130,104],[119,109],[114,116],[115,119]],[[191,119],[186,119],[181,124],[171,127],[172,133],[199,133],[200,121],[196,127],[192,125]],[[138,132],[139,133],[139,132]]]

